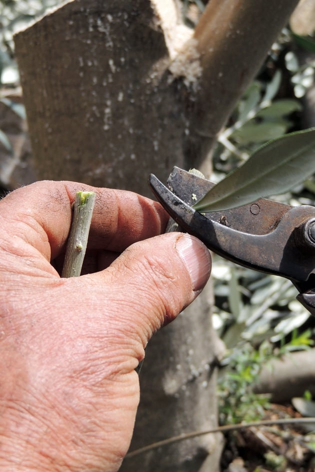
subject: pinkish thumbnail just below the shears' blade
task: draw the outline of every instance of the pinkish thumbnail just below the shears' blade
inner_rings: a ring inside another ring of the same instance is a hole
[[[176,249],[190,275],[193,290],[201,290],[211,272],[209,251],[201,241],[188,234],[177,240]]]

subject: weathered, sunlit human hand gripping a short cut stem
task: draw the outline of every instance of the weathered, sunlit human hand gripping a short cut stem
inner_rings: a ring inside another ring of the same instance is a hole
[[[62,279],[78,190],[96,192],[84,275]],[[159,235],[167,218],[144,197],[71,182],[0,201],[0,471],[120,467],[144,347],[210,272],[197,239]]]

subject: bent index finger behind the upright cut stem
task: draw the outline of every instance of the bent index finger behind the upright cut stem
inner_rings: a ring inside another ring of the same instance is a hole
[[[25,223],[23,231],[27,234],[24,237],[41,252],[40,241],[46,238],[50,246],[48,258],[53,259],[67,239],[71,205],[80,190],[96,193],[89,247],[121,252],[136,241],[160,234],[165,228],[167,214],[148,198],[124,190],[68,181],[40,181],[14,190],[0,201],[0,215],[12,234],[15,227],[20,235],[20,224]]]

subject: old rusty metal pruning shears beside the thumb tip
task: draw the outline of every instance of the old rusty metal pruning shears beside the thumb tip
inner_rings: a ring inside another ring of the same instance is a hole
[[[182,231],[229,261],[289,279],[299,292],[297,300],[315,315],[315,207],[261,198],[231,210],[202,213],[193,205],[214,183],[178,167],[167,186],[153,174],[149,185]]]

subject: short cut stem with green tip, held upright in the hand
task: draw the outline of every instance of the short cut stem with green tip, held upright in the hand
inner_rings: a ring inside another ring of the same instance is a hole
[[[95,196],[94,192],[76,192],[61,277],[78,277],[81,273]]]

